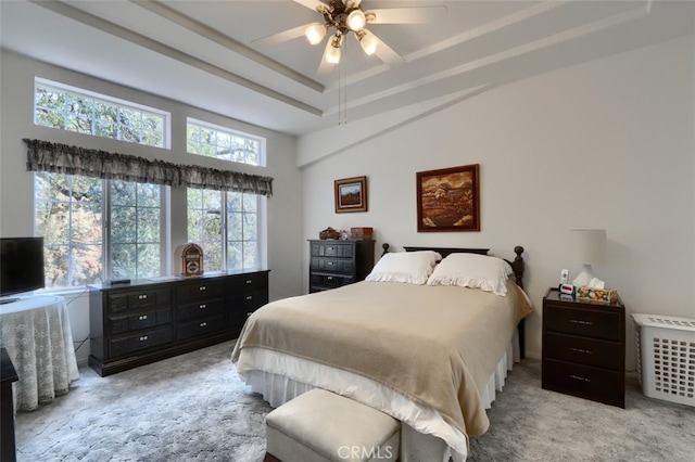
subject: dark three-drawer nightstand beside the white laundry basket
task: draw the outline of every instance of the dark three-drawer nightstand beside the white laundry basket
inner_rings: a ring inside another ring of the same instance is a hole
[[[551,287],[543,297],[545,389],[626,407],[626,307],[574,299]]]

